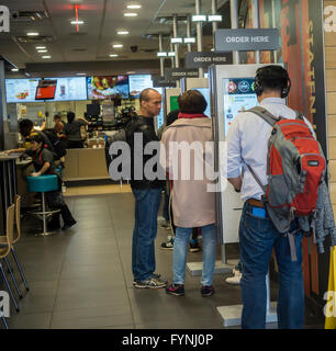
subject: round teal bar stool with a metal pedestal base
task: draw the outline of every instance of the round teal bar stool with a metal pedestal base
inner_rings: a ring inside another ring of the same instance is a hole
[[[42,211],[31,212],[30,214],[35,215],[43,222],[43,233],[41,236],[47,236],[52,233],[47,231],[47,218],[54,214],[59,213],[60,210],[46,211],[45,193],[47,191],[58,190],[58,179],[55,174],[40,176],[40,177],[27,177],[27,191],[33,193],[42,193]],[[36,234],[37,235],[37,234]]]

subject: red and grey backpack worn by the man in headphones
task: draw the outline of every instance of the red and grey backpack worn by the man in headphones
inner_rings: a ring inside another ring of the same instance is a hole
[[[299,112],[295,120],[276,118],[261,106],[249,112],[272,126],[267,157],[269,183],[262,185],[248,168],[265,192],[269,216],[277,229],[284,234],[294,217],[316,215],[317,189],[326,160],[320,143]]]

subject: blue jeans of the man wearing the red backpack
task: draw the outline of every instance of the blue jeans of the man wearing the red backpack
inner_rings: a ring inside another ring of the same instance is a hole
[[[266,325],[266,274],[272,248],[279,267],[278,325],[280,329],[301,329],[304,321],[304,288],[302,274],[302,234],[295,235],[298,261],[291,260],[288,237],[265,218],[253,215],[253,206],[244,205],[239,226],[243,276],[240,281],[242,327],[264,329]],[[298,228],[292,223],[291,231]]]

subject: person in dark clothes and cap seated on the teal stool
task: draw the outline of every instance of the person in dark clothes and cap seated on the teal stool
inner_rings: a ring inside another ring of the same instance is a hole
[[[61,230],[66,230],[72,227],[77,222],[71,215],[70,210],[64,201],[60,185],[61,179],[55,171],[53,152],[44,148],[44,140],[41,135],[34,135],[31,140],[31,147],[24,151],[24,154],[33,158],[33,165],[35,171],[32,172],[32,177],[40,177],[42,174],[56,174],[59,179],[58,190],[46,192],[46,201],[51,208],[60,210],[60,215],[64,222]],[[49,229],[56,230],[60,228],[59,214],[53,216]]]

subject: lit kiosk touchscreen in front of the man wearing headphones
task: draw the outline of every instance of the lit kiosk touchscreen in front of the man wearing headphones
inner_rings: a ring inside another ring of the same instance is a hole
[[[258,104],[255,93],[254,78],[227,78],[223,79],[223,103],[224,103],[224,123],[225,133],[235,118],[235,116]]]

